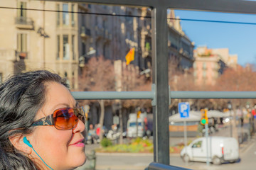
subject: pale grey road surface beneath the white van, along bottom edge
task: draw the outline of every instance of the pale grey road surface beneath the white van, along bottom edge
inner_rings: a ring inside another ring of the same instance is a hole
[[[97,154],[97,170],[103,169],[145,169],[153,162],[153,154]],[[210,164],[207,166],[205,162],[188,162],[184,163],[178,154],[170,155],[170,164],[181,166],[188,169],[235,169],[235,170],[252,170],[256,166],[256,140],[252,138],[250,144],[240,154],[240,162],[233,164],[221,164],[219,166]]]

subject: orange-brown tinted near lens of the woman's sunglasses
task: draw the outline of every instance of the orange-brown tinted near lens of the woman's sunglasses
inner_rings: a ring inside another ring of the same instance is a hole
[[[55,111],[55,128],[58,130],[70,130],[78,124],[73,108],[60,108]]]

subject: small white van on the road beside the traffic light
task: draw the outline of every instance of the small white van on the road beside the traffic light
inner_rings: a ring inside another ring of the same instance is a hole
[[[184,162],[206,162],[206,137],[200,137],[181,150]],[[208,137],[208,161],[213,164],[237,162],[239,159],[238,141],[234,137]]]

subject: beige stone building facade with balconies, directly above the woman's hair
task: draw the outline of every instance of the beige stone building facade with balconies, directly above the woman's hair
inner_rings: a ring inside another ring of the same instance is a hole
[[[71,89],[78,89],[78,4],[50,1],[1,1],[0,68],[3,79],[9,74],[49,69],[66,77]],[[26,10],[34,8],[42,11]]]

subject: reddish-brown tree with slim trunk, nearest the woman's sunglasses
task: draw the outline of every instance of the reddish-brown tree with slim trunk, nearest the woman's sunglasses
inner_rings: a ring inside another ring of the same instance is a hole
[[[82,91],[114,91],[114,66],[104,57],[92,57],[80,75],[80,90]],[[105,101],[100,100],[100,140],[105,115]]]

